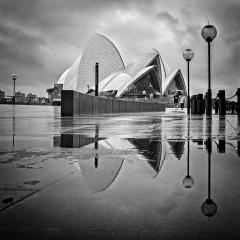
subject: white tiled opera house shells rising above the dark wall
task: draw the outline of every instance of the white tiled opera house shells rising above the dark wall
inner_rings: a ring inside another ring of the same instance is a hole
[[[125,66],[115,45],[100,34],[89,39],[81,56],[57,83],[63,84],[64,90],[93,94],[96,63],[99,63],[99,95],[121,98],[141,97],[143,93],[166,96],[175,90],[186,93],[181,70],[170,72],[156,49]]]

